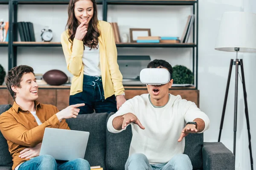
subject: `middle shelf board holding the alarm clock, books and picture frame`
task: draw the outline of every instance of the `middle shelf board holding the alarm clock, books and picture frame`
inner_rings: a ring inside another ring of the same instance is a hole
[[[18,47],[61,47],[61,42],[13,42]],[[196,47],[194,43],[116,43],[116,47],[169,47],[169,48],[191,48]]]

